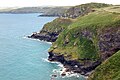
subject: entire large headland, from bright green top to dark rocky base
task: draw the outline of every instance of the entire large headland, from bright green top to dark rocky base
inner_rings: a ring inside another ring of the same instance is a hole
[[[120,14],[99,10],[69,25],[50,48],[49,60],[86,75],[118,50]]]

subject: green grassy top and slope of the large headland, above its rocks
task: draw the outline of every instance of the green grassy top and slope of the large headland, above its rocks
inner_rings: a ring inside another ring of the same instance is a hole
[[[68,29],[59,35],[57,41],[49,51],[53,50],[56,54],[64,54],[67,59],[99,59],[97,45],[99,31],[107,27],[116,27],[119,25],[119,13],[102,10],[89,13],[77,18],[73,24],[69,25]],[[77,33],[81,33],[84,30],[92,32],[93,36],[91,39],[81,34],[77,35]],[[65,42],[68,43],[65,44]]]

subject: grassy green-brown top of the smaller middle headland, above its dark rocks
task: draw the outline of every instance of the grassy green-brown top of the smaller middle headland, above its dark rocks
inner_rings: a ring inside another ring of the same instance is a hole
[[[52,22],[49,22],[44,25],[42,32],[47,31],[47,32],[61,32],[62,30],[66,29],[68,25],[70,25],[73,22],[71,19],[61,19],[57,18],[53,20]]]

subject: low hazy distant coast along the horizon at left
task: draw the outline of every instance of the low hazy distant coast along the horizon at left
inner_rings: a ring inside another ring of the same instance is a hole
[[[43,13],[41,16],[59,16],[69,7],[22,7],[0,9],[0,13]]]

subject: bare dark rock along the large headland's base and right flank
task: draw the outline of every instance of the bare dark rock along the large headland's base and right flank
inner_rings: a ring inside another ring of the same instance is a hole
[[[83,30],[80,33],[76,33],[74,36],[77,37],[79,35],[92,41],[94,34],[89,30]],[[73,71],[82,75],[89,75],[88,73],[100,65],[102,61],[120,50],[120,27],[105,28],[104,30],[98,32],[98,35],[96,36],[98,37],[97,45],[100,51],[99,54],[101,55],[101,59],[92,61],[91,59],[83,58],[79,59],[82,61],[81,63],[79,60],[68,60],[64,55],[50,51],[49,60],[61,62],[68,71]]]

